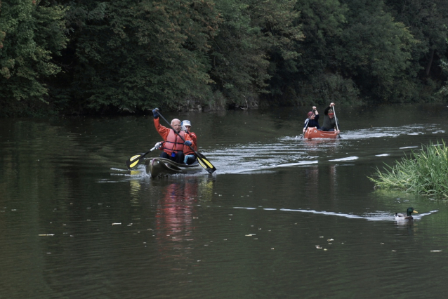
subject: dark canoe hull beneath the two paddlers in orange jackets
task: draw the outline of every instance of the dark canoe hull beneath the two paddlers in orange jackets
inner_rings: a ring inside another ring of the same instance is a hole
[[[198,163],[192,165],[178,164],[165,158],[147,159],[145,166],[146,173],[150,174],[152,178],[157,178],[157,176],[161,175],[199,173],[202,171],[202,166]]]

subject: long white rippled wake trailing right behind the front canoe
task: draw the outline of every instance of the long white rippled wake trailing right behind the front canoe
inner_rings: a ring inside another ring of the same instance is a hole
[[[302,139],[300,135],[276,138],[272,142],[253,142],[244,145],[222,147],[211,152],[199,149],[216,166],[218,174],[257,173],[275,171],[275,168],[312,166],[315,164],[340,164],[362,159],[380,159],[393,155],[402,155],[404,150],[421,147],[412,146],[385,148],[383,140],[374,142],[369,151],[359,156],[357,142],[376,138],[396,138],[400,135],[428,135],[443,133],[436,125],[414,125],[406,127],[381,127],[353,131],[344,131],[341,139]],[[370,141],[367,141],[370,142]],[[378,144],[376,144],[378,143]],[[352,150],[353,149],[353,150]],[[377,150],[377,152],[373,152]],[[351,152],[350,152],[351,151]]]

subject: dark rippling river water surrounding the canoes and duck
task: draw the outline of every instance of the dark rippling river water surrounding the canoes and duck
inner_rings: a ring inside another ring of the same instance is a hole
[[[159,179],[124,165],[152,116],[0,119],[0,298],[444,298],[447,202],[368,177],[447,111],[336,106],[337,140],[302,140],[303,108],[164,113],[217,171]]]

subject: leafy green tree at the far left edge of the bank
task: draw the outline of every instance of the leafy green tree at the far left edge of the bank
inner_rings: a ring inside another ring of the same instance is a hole
[[[67,39],[65,8],[45,1],[1,2],[0,7],[0,107],[33,102],[48,95],[46,81],[60,72],[52,61]]]

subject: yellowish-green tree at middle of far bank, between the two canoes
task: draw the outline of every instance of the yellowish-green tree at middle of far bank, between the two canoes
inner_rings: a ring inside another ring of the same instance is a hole
[[[211,53],[216,89],[237,103],[267,93],[276,65],[296,58],[294,44],[303,39],[294,1],[228,0],[216,8],[223,18]]]

